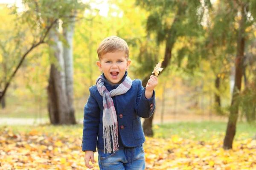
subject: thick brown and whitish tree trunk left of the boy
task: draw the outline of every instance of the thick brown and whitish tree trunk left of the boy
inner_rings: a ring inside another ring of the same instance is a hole
[[[55,45],[51,45],[51,55],[55,57],[55,63],[50,68],[50,79],[48,86],[48,108],[52,124],[75,124],[68,108],[66,95],[65,67],[63,59],[62,43],[58,39],[58,29],[50,32],[50,38]]]

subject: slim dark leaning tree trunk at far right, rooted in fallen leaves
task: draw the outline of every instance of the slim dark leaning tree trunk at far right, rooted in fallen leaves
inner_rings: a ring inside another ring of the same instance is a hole
[[[245,22],[246,15],[244,13],[244,5],[241,7],[241,20],[239,22],[238,40],[237,40],[237,54],[235,59],[235,86],[232,95],[230,116],[227,124],[226,136],[224,139],[224,149],[232,149],[233,139],[236,134],[236,122],[239,113],[239,101],[237,96],[241,90],[241,80],[243,75],[243,57],[244,57],[244,32],[245,32]],[[238,92],[237,92],[238,90]]]

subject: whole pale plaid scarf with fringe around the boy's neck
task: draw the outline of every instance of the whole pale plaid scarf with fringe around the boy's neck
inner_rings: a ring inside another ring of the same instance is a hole
[[[108,91],[105,87],[105,83],[100,75],[96,80],[96,86],[99,91],[99,94],[103,98],[103,141],[104,141],[104,153],[107,150],[107,153],[111,153],[111,136],[112,136],[112,146],[113,152],[118,150],[118,125],[116,118],[116,109],[111,97],[125,94],[132,85],[130,77],[125,77],[125,80],[118,85],[116,89]]]

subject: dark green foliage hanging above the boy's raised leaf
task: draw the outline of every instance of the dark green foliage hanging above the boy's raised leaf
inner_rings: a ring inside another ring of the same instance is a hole
[[[174,47],[176,47],[179,42],[184,42],[184,45],[178,47],[177,51],[176,49],[172,50],[172,56],[175,57],[172,58],[174,58],[174,64],[179,66],[181,66],[181,62],[187,60],[182,67],[188,72],[193,72],[199,66],[202,58],[201,51],[195,50],[202,44],[202,40],[197,39],[197,37],[204,35],[201,22],[205,9],[202,2],[198,0],[137,0],[136,2],[137,5],[150,11],[146,28],[148,34],[156,35],[157,45],[166,42],[166,46],[172,47],[175,44]],[[206,4],[209,4],[209,2],[204,3],[204,5]],[[186,43],[191,45],[188,46]]]

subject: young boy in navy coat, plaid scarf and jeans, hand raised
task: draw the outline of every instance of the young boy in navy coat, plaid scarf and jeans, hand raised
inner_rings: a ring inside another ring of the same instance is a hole
[[[103,74],[89,88],[84,107],[82,151],[84,163],[93,168],[94,153],[99,153],[101,170],[144,170],[145,136],[140,117],[149,118],[155,108],[157,77],[151,75],[143,88],[139,79],[127,76],[129,48],[119,37],[105,38],[98,47],[96,64]]]

